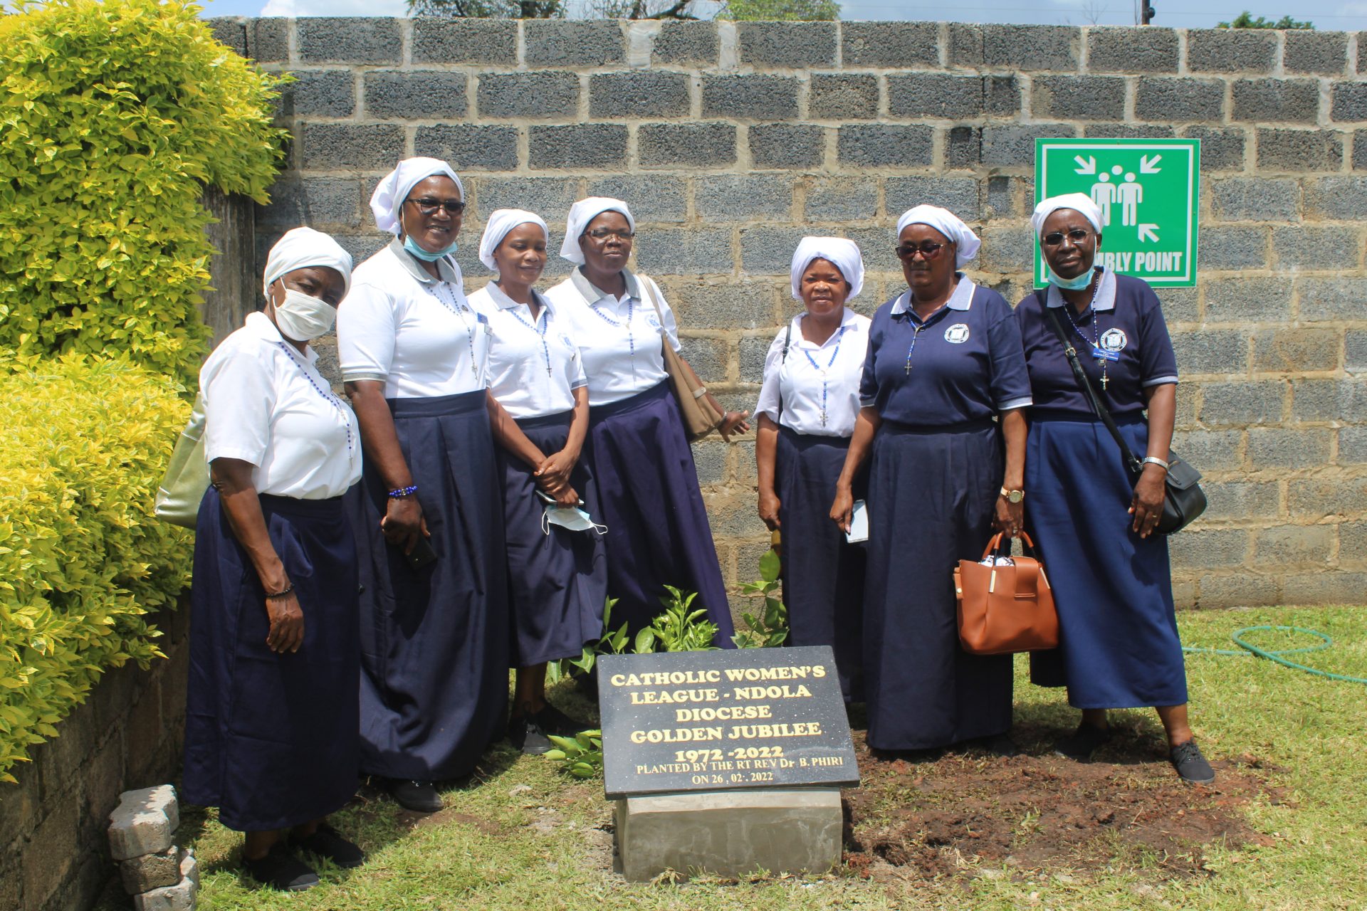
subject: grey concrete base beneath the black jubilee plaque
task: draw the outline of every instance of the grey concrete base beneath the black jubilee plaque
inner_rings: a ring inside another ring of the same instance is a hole
[[[826,873],[841,862],[839,788],[690,791],[617,800],[622,874]]]

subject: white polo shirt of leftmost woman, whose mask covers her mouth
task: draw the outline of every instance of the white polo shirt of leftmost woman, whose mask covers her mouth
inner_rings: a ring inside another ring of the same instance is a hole
[[[256,466],[257,493],[297,500],[339,497],[361,479],[361,430],[306,354],[264,313],[213,350],[200,369],[205,459]]]

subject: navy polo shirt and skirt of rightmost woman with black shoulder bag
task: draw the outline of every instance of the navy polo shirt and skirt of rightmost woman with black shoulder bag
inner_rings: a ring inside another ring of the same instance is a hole
[[[1077,387],[1046,307],[1058,307],[1098,393],[1102,359],[1091,351],[1117,355],[1105,362],[1105,400],[1136,455],[1148,443],[1144,391],[1177,382],[1158,296],[1140,279],[1102,272],[1096,298],[1081,316],[1053,287],[1016,310],[1035,392],[1025,526],[1048,567],[1059,621],[1059,647],[1031,656],[1032,679],[1066,684],[1068,701],[1079,709],[1182,705],[1187,673],[1167,538],[1131,531],[1135,479]]]

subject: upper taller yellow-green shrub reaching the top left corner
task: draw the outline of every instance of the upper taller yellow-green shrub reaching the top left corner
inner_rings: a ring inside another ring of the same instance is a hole
[[[265,201],[278,79],[168,0],[0,15],[0,350],[127,352],[193,384],[206,186]]]

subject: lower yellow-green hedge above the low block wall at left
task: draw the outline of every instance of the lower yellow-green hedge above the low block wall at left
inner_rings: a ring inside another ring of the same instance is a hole
[[[127,358],[0,363],[0,781],[109,667],[161,653],[144,615],[190,580],[152,516],[190,404]]]

